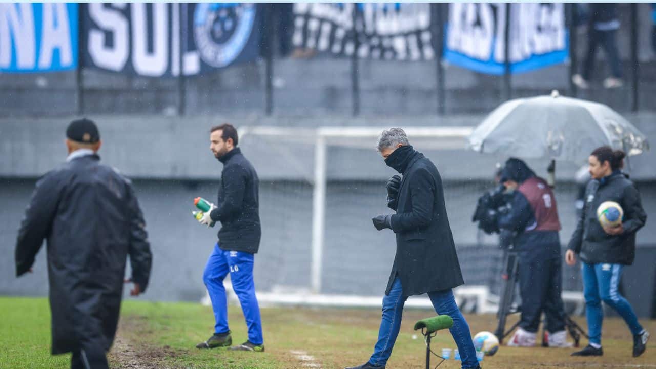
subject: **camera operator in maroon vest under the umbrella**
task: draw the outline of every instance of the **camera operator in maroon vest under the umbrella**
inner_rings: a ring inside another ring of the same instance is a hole
[[[499,182],[509,196],[497,217],[502,247],[518,250],[522,317],[509,346],[532,347],[544,311],[549,347],[571,347],[566,341],[561,298],[562,259],[556,198],[544,179],[516,158],[506,161]]]

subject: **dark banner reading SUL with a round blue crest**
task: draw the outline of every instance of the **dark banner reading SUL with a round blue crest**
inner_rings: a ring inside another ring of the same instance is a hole
[[[258,56],[255,4],[89,3],[81,16],[85,67],[174,77],[182,53],[184,74],[194,76]]]

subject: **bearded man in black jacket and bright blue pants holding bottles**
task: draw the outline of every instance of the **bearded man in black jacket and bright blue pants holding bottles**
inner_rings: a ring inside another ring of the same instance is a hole
[[[215,333],[207,341],[196,345],[199,349],[213,349],[232,345],[228,328],[228,301],[223,279],[230,272],[232,287],[239,297],[246,325],[248,341],[234,346],[234,350],[264,351],[260,307],[255,296],[253,262],[260,247],[259,179],[253,165],[237,148],[237,130],[230,124],[213,127],[210,149],[223,163],[217,205],[211,204],[199,222],[211,225],[221,222],[218,242],[207,260],[203,281],[212,300]]]

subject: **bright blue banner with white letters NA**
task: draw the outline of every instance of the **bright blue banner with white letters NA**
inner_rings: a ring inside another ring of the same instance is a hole
[[[0,72],[77,68],[77,4],[0,3]]]

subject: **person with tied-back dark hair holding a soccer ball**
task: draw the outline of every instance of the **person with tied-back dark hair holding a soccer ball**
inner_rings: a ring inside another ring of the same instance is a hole
[[[633,334],[633,357],[645,352],[649,332],[638,322],[630,303],[619,294],[622,269],[631,265],[636,254],[636,232],[645,225],[647,215],[634,184],[621,172],[625,153],[608,146],[590,154],[588,164],[592,181],[588,183],[584,206],[576,230],[569,241],[565,262],[574,265],[581,259],[583,293],[590,343],[572,356],[602,356],[602,301],[610,305],[625,320]],[[623,209],[623,220],[616,227],[602,223],[597,209],[612,201]]]

